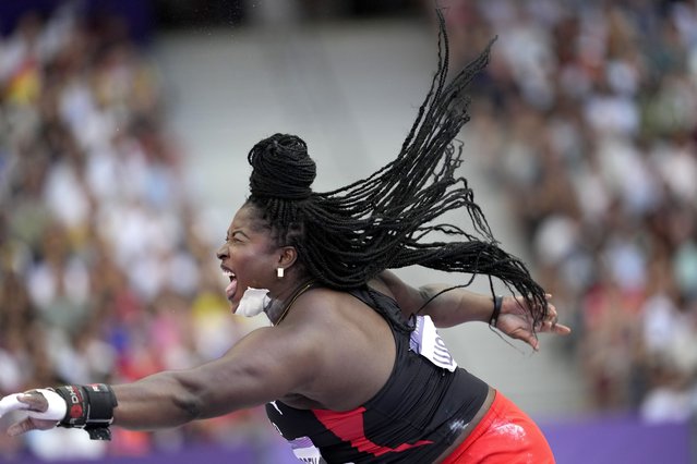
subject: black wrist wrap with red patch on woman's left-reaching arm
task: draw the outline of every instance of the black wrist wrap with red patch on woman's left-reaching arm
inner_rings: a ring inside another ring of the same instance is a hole
[[[111,387],[105,383],[63,386],[53,389],[68,404],[59,427],[84,428],[93,440],[110,440],[109,426],[118,405]]]

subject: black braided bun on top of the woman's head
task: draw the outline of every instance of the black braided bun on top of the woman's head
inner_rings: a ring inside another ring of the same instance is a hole
[[[274,134],[254,145],[248,160],[253,168],[250,175],[252,196],[292,200],[312,195],[316,166],[300,137]]]

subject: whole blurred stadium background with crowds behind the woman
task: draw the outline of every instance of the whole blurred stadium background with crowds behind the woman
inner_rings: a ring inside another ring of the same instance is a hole
[[[0,394],[185,368],[265,323],[229,314],[214,255],[247,152],[300,135],[317,191],[392,160],[434,4],[453,68],[497,37],[461,173],[574,330],[531,353],[472,323],[450,351],[561,464],[697,462],[695,1],[1,1]],[[113,435],[1,434],[0,462],[295,462],[261,408]]]

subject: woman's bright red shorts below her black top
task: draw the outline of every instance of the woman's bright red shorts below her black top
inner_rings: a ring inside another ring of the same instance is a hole
[[[496,391],[490,410],[443,464],[548,464],[554,454],[540,428]]]

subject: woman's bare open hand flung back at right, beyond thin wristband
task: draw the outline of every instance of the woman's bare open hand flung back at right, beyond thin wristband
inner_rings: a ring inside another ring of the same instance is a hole
[[[522,296],[505,296],[501,306],[501,314],[496,321],[496,329],[512,339],[522,340],[534,351],[540,350],[540,341],[537,333],[555,333],[567,335],[572,329],[558,323],[558,315],[553,304],[549,303],[552,295],[548,294],[548,314],[544,320],[537,327],[532,327],[532,317],[527,310],[527,304]]]

